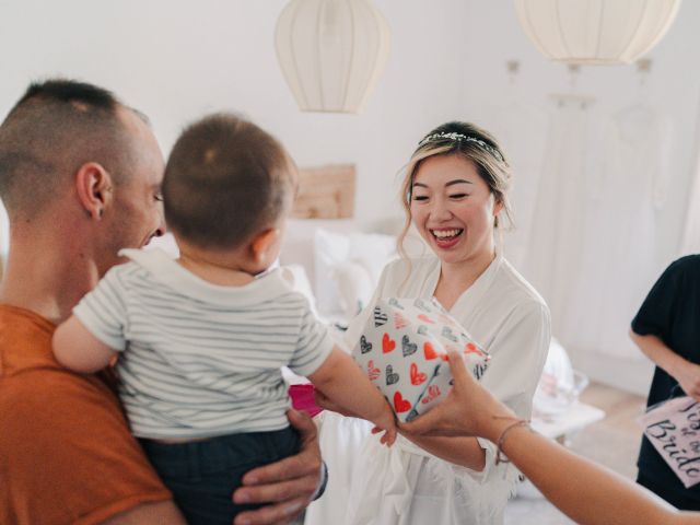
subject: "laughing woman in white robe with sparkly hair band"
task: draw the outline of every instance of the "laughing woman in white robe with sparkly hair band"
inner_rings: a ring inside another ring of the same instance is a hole
[[[542,299],[497,250],[495,232],[511,215],[509,182],[503,152],[486,131],[448,122],[428,133],[406,171],[399,246],[412,224],[433,255],[387,266],[374,300],[434,296],[491,353],[483,385],[528,418],[550,323]],[[348,330],[351,346],[373,302]],[[352,458],[348,508],[338,514],[353,525],[501,523],[517,471],[495,466],[494,455],[492,443],[476,438],[411,435],[386,450],[369,436]],[[330,469],[335,476],[339,467]]]

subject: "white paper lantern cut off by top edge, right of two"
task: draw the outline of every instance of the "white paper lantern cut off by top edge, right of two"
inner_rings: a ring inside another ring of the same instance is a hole
[[[680,0],[515,0],[525,34],[551,60],[630,63],[666,34]]]

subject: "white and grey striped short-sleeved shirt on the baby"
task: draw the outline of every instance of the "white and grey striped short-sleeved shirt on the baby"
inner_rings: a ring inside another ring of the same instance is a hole
[[[122,250],[73,313],[122,352],[119,394],[139,438],[208,438],[289,425],[280,368],[315,372],[328,328],[277,269],[243,287],[211,284],[163,252]]]

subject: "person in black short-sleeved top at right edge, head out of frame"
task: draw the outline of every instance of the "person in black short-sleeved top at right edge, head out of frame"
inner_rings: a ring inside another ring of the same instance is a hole
[[[656,364],[646,406],[672,397],[700,401],[700,255],[673,262],[632,320],[630,336]],[[686,489],[644,436],[637,482],[677,509],[700,511],[700,485]]]

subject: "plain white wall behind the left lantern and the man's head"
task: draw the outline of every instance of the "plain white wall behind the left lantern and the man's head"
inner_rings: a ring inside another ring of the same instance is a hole
[[[462,103],[467,7],[439,3],[376,1],[393,31],[392,55],[364,114],[349,116],[299,112],[273,49],[284,0],[3,1],[0,114],[33,79],[77,77],[147,113],[167,153],[185,122],[238,110],[280,138],[299,165],[355,163],[366,228],[400,213],[397,172]]]

